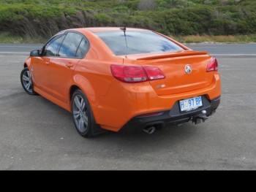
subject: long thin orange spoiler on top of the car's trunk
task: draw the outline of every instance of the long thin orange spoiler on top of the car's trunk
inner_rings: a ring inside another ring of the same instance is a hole
[[[136,57],[136,60],[151,60],[151,59],[158,59],[158,58],[173,58],[173,57],[183,57],[183,56],[190,56],[190,55],[208,55],[206,51],[195,51],[195,50],[184,50],[178,51],[173,53],[157,53],[155,55],[145,55],[141,57]],[[129,57],[132,57],[130,55]]]

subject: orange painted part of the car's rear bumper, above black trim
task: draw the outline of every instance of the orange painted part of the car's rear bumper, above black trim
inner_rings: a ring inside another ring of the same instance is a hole
[[[141,128],[141,126],[145,126],[147,122],[150,123],[152,120],[160,120],[165,124],[176,121],[176,118],[181,119],[184,117],[187,120],[191,115],[178,113],[178,101],[195,96],[206,96],[208,100],[206,104],[211,103],[212,108],[214,108],[212,100],[220,95],[220,76],[219,74],[214,74],[211,85],[206,88],[161,96],[157,95],[149,82],[130,84],[113,80],[105,96],[88,96],[88,98],[97,124],[101,128],[110,131],[120,131],[125,127],[131,129],[134,127]],[[204,104],[203,107],[209,106]],[[211,110],[211,107],[209,110]],[[139,115],[149,112],[162,112],[162,115],[141,118],[141,120],[138,118]],[[197,112],[197,110],[194,112]],[[132,122],[138,122],[138,126]]]

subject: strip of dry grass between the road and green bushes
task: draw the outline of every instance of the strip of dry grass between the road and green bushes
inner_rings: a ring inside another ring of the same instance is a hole
[[[200,43],[200,42],[222,42],[222,43],[249,43],[256,42],[256,34],[253,35],[238,35],[238,36],[209,36],[209,35],[189,35],[171,38],[183,43]],[[48,39],[42,37],[20,37],[8,32],[0,32],[0,43],[45,43]]]

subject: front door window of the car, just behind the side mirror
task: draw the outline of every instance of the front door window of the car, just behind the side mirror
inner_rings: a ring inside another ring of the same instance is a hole
[[[64,34],[58,35],[54,37],[53,39],[48,42],[47,45],[45,45],[45,51],[43,55],[45,56],[58,56],[59,47],[61,46],[61,42],[64,39]]]

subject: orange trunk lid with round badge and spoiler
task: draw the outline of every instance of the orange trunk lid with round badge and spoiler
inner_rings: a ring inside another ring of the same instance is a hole
[[[157,95],[182,93],[211,84],[214,73],[206,72],[211,58],[206,52],[193,50],[174,53],[126,55],[124,64],[138,64],[140,66],[157,66],[165,74],[165,79],[149,81]],[[192,72],[187,74],[185,68],[191,66]]]

